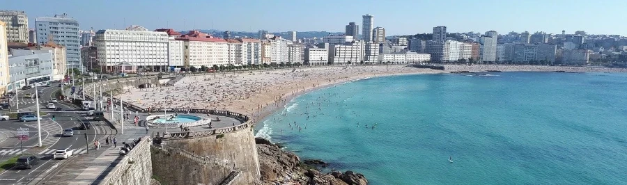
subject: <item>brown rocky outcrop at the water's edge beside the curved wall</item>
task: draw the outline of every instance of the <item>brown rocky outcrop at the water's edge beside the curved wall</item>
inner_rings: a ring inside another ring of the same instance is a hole
[[[313,166],[326,166],[320,160],[300,161],[293,152],[281,150],[278,145],[263,138],[255,138],[261,181],[263,184],[299,183],[299,184],[326,184],[326,185],[366,185],[368,181],[364,175],[353,171],[323,173]],[[309,166],[313,165],[313,166]]]

